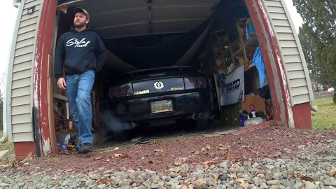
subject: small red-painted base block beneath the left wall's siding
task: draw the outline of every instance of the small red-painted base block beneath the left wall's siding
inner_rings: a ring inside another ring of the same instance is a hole
[[[36,144],[34,142],[15,142],[14,143],[15,158],[22,160],[27,155],[36,155]]]

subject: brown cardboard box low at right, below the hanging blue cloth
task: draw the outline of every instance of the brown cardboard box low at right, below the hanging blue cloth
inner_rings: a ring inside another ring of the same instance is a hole
[[[251,113],[250,104],[254,105],[255,112],[266,113],[265,99],[254,95],[245,95],[245,99],[241,102],[241,110]]]

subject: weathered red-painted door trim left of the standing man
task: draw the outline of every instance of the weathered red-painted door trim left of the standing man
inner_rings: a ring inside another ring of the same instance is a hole
[[[34,106],[38,109],[38,126],[41,130],[42,154],[51,152],[50,125],[48,116],[48,55],[52,53],[52,34],[57,1],[45,0],[36,39],[34,65]]]

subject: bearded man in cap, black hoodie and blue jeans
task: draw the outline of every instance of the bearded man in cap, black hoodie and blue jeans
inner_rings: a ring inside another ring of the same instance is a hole
[[[89,13],[80,7],[76,7],[74,13],[71,31],[63,34],[57,42],[54,72],[57,86],[66,91],[73,123],[78,131],[78,153],[89,153],[93,141],[90,94],[95,72],[102,69],[106,59],[106,49],[102,39],[87,27]]]

